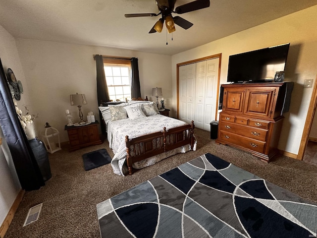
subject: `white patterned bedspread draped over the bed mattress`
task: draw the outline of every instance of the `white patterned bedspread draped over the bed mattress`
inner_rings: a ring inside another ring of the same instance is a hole
[[[170,128],[186,124],[187,123],[184,121],[165,117],[162,115],[149,116],[146,118],[136,120],[121,119],[109,121],[107,126],[107,135],[109,147],[112,149],[114,153],[114,157],[111,161],[113,172],[118,175],[124,175],[127,172],[127,167],[124,165],[127,156],[125,147],[126,135],[128,135],[131,139],[138,136],[162,131],[163,127],[166,127],[166,130],[168,130]],[[196,142],[193,149],[196,150]],[[136,162],[133,164],[133,167],[136,169],[141,169],[146,166],[153,165],[156,162],[159,162],[160,160],[169,157],[173,154],[185,153],[188,150],[190,150],[190,145],[182,146],[172,151],[168,151],[160,155]]]

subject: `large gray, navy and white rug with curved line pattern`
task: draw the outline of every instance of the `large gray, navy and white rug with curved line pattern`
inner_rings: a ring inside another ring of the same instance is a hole
[[[207,153],[97,204],[101,237],[310,238],[317,204]]]

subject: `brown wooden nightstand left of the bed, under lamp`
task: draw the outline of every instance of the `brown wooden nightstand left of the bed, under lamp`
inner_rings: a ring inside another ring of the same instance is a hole
[[[65,125],[65,130],[67,130],[70,148],[69,151],[78,150],[82,147],[87,147],[90,145],[100,145],[103,142],[100,140],[98,127],[98,120],[91,122],[88,125],[81,126],[67,126]]]

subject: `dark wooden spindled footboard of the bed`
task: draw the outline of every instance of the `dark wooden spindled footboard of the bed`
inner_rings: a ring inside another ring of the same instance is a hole
[[[192,120],[191,124],[171,128],[168,131],[164,127],[162,132],[155,132],[132,139],[129,139],[129,136],[126,135],[126,161],[129,174],[133,174],[132,164],[135,162],[188,144],[191,145],[191,150],[193,150],[195,142],[194,128],[195,125]]]

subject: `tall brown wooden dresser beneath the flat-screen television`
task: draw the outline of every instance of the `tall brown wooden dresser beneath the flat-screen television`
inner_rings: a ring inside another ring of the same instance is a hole
[[[286,84],[223,84],[216,143],[251,152],[262,160],[277,153]]]

